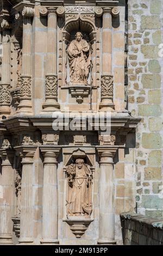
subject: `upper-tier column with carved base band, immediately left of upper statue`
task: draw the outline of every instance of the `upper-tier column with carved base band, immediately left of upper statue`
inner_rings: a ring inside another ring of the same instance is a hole
[[[47,29],[47,75],[46,96],[43,111],[58,111],[58,77],[57,77],[57,8],[40,9],[40,14],[48,13]]]

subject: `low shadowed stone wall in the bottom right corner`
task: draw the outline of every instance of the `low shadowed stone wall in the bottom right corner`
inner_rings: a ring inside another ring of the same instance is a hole
[[[139,214],[121,214],[124,245],[163,245],[163,222]]]

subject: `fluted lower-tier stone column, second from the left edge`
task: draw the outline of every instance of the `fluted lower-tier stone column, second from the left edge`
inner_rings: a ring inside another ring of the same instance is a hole
[[[24,245],[33,242],[33,156],[36,147],[21,147],[22,180],[21,180],[21,214],[20,239]]]

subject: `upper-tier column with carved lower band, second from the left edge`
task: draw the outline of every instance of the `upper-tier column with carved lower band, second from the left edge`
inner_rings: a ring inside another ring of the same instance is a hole
[[[20,104],[18,112],[32,112],[32,20],[34,9],[24,7],[23,16],[23,45],[22,45],[22,74]]]

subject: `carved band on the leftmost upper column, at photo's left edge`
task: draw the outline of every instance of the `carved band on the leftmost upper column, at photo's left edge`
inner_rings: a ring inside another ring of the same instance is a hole
[[[0,106],[10,106],[10,84],[1,84]]]

